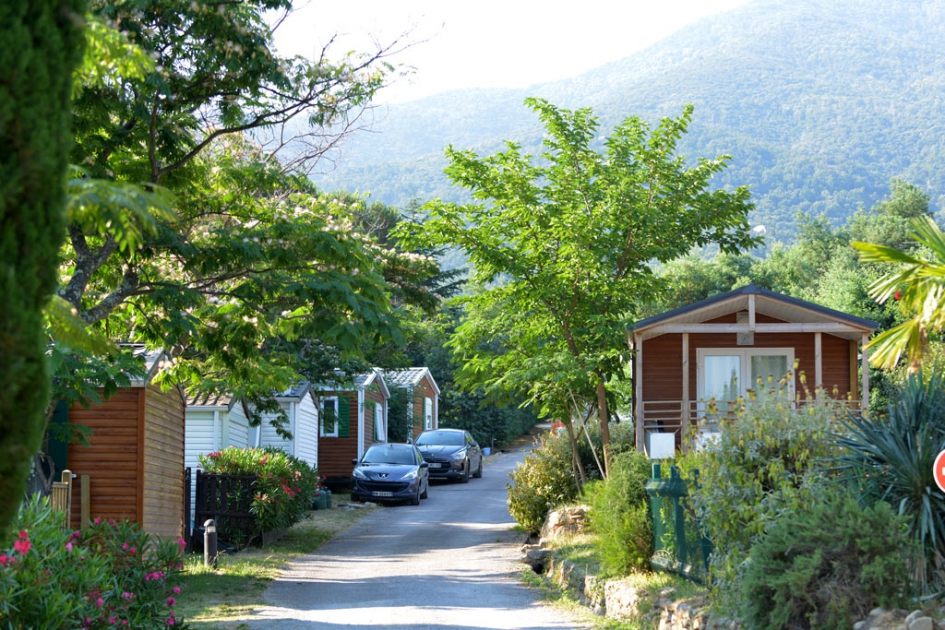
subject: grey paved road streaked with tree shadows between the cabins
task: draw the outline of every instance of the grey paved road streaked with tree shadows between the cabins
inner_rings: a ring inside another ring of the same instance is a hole
[[[266,591],[252,630],[583,628],[540,604],[518,579],[521,534],[505,504],[521,452],[482,479],[434,483],[418,507],[379,509],[293,563]]]

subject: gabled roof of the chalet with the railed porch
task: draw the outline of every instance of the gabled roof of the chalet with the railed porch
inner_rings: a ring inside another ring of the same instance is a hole
[[[668,332],[684,332],[686,326],[695,327],[710,319],[749,310],[752,303],[755,313],[784,322],[805,324],[804,332],[827,332],[837,337],[859,340],[863,334],[879,328],[877,322],[750,284],[641,319],[633,333],[648,339]],[[763,332],[764,325],[758,326]],[[693,328],[690,332],[695,331]]]

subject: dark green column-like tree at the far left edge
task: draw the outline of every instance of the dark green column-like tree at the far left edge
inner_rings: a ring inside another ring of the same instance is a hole
[[[0,529],[20,503],[49,396],[43,308],[63,238],[81,0],[0,4]]]

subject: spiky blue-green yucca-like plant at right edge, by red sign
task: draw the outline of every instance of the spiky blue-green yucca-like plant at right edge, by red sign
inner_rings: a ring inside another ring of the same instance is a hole
[[[852,414],[836,436],[843,451],[837,469],[868,503],[891,504],[908,526],[906,554],[921,591],[945,584],[945,495],[934,477],[945,447],[945,382],[942,372],[910,375],[885,414]]]

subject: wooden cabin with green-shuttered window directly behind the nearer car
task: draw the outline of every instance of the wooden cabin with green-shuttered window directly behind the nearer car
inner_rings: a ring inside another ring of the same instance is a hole
[[[387,403],[390,391],[378,369],[338,380],[316,389],[319,411],[318,472],[333,487],[351,480],[351,460],[369,446],[387,441]]]

